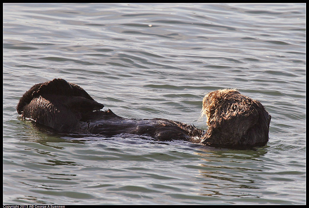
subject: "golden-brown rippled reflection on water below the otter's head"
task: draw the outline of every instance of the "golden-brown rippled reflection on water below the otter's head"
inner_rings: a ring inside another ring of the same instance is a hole
[[[256,150],[229,150],[200,148],[195,152],[200,156],[201,195],[218,197],[260,198],[261,195],[250,189],[260,189],[263,180],[261,172],[265,171],[260,158],[267,153],[266,148]],[[206,192],[206,193],[205,193]]]

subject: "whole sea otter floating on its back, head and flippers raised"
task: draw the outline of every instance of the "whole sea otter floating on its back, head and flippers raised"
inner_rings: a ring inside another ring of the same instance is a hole
[[[103,107],[78,85],[53,79],[33,85],[16,109],[21,117],[60,133],[128,133],[228,148],[252,148],[268,142],[271,116],[260,102],[232,89],[211,92],[203,99],[201,116],[207,117],[207,131],[167,119],[127,119],[110,109],[101,111]]]

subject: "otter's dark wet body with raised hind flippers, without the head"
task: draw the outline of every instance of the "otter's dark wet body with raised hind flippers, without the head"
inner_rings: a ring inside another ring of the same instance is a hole
[[[63,79],[33,85],[16,107],[24,118],[62,133],[90,133],[112,136],[121,133],[146,135],[155,139],[193,140],[203,131],[167,119],[126,119],[95,102],[85,90]]]

